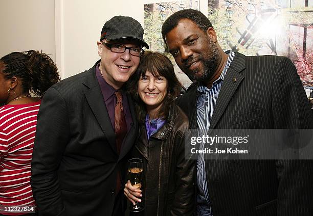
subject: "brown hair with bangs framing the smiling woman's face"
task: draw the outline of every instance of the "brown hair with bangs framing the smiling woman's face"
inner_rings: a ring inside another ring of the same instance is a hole
[[[174,99],[181,91],[182,85],[178,81],[172,62],[159,52],[145,51],[140,59],[137,71],[130,77],[127,83],[128,93],[136,101],[136,113],[140,123],[145,122],[147,115],[146,105],[137,93],[139,79],[149,71],[153,76],[164,76],[167,79],[167,94],[159,110],[158,118],[167,119],[169,109]]]

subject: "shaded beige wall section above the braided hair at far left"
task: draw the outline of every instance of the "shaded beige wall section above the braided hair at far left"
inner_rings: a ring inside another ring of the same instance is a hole
[[[0,58],[30,49],[55,60],[54,0],[0,0]]]

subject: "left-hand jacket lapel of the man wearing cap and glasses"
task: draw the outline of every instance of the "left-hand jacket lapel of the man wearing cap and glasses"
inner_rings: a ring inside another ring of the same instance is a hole
[[[98,62],[96,63],[96,65]],[[115,143],[115,132],[113,131],[110,117],[108,115],[106,105],[103,100],[103,95],[96,78],[95,67],[91,68],[87,73],[86,79],[83,80],[83,85],[87,88],[84,90],[84,94],[88,105],[90,106],[92,112],[94,113],[103,133],[106,135],[107,140],[112,147],[112,149],[117,153],[116,143]]]

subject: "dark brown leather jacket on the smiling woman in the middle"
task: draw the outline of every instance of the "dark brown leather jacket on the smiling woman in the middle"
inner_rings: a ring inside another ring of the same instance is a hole
[[[176,105],[150,141],[145,125],[140,126],[132,157],[143,159],[145,215],[193,215],[196,160],[185,159],[185,136],[189,134],[188,117]]]

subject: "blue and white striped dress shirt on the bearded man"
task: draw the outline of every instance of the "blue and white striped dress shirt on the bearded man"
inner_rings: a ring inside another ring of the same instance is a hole
[[[218,97],[220,87],[227,72],[229,65],[232,63],[235,52],[226,51],[229,54],[225,68],[222,70],[218,79],[213,82],[212,88],[200,85],[197,87],[197,123],[199,129],[208,129],[211,117],[214,111],[215,103]],[[200,146],[204,148],[204,143]],[[199,154],[197,161],[197,213],[200,216],[212,216],[210,198],[208,193],[208,185],[206,181],[204,154]],[[209,185],[210,186],[210,185]]]

